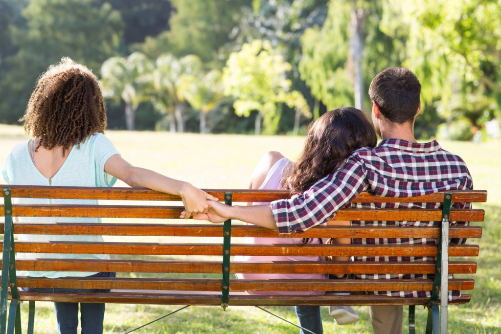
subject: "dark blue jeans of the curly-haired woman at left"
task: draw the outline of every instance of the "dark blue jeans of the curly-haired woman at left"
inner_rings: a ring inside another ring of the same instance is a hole
[[[98,272],[87,277],[115,277],[114,272]],[[109,292],[105,289],[62,289],[62,288],[23,288],[25,291],[39,292]],[[77,334],[78,302],[54,302],[58,334]],[[80,303],[82,334],[99,334],[103,332],[103,303]]]

